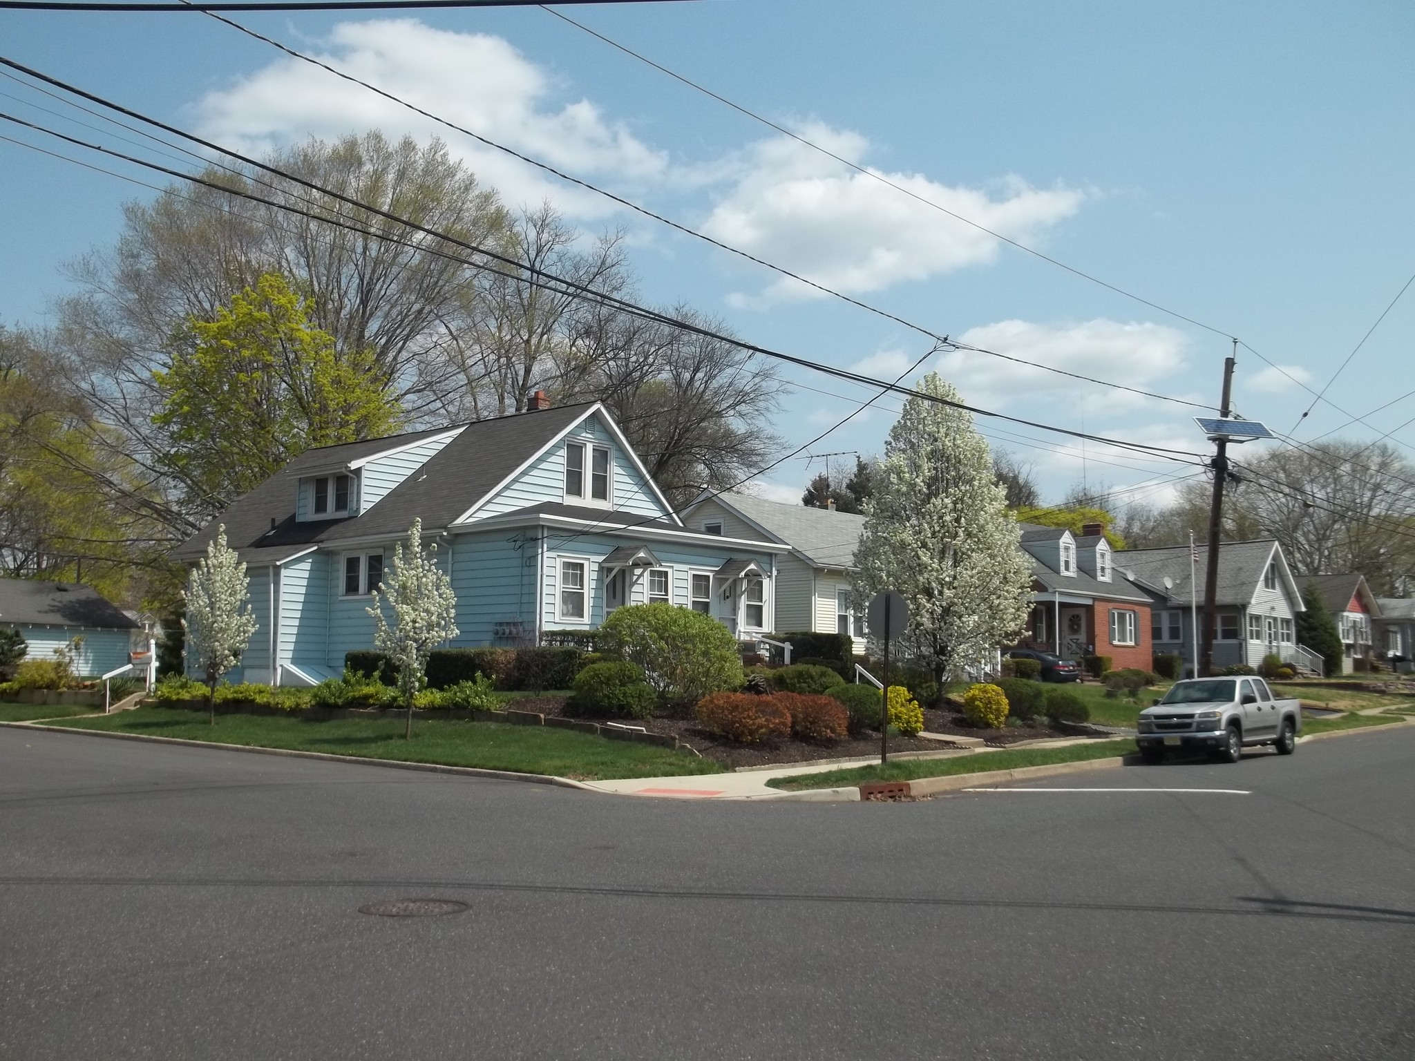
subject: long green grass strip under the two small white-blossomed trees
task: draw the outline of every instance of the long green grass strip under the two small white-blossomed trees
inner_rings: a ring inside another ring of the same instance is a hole
[[[218,714],[208,726],[200,712],[137,707],[120,714],[57,723],[86,730],[143,733],[221,744],[245,744],[296,751],[323,751],[359,758],[440,763],[451,767],[514,770],[525,774],[593,781],[603,778],[715,774],[724,767],[708,758],[652,744],[631,744],[589,733],[490,721],[413,721],[403,740],[400,719],[308,721],[258,714]]]

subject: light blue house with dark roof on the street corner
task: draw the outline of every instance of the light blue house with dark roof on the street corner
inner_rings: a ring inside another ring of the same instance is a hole
[[[225,525],[259,628],[232,680],[311,685],[374,644],[369,591],[415,518],[457,596],[450,647],[536,645],[630,603],[774,628],[787,546],[692,530],[599,403],[308,450],[178,546]]]

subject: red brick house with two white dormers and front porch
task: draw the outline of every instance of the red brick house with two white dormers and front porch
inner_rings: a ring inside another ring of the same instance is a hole
[[[1064,659],[1109,656],[1115,668],[1149,671],[1150,597],[1115,569],[1099,523],[1082,535],[1056,526],[1022,525],[1022,547],[1032,557],[1032,617],[1027,648]]]

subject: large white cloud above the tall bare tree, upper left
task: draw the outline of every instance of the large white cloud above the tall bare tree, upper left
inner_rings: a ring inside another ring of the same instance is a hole
[[[644,182],[664,177],[668,157],[604,117],[589,100],[558,105],[552,79],[499,37],[434,30],[412,18],[340,23],[327,51],[330,65],[395,96],[582,177],[613,175]],[[341,81],[301,59],[276,59],[197,105],[202,132],[250,151],[303,140],[382,129],[419,140],[440,136],[485,184],[509,204],[553,198],[576,216],[616,209],[492,147]]]

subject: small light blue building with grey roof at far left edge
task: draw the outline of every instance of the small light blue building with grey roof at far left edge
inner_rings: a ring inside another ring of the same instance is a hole
[[[92,586],[37,579],[0,579],[0,627],[20,631],[27,659],[54,659],[79,638],[74,669],[96,678],[129,662],[129,652],[146,648],[142,627]]]

